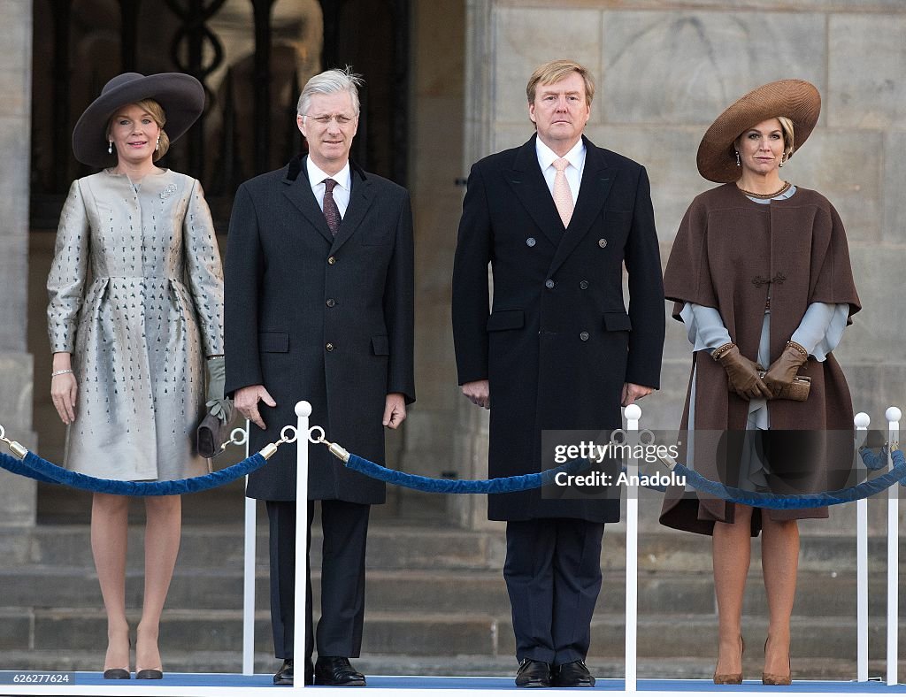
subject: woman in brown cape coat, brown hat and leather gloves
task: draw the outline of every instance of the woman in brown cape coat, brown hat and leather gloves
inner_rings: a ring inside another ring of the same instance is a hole
[[[674,317],[686,322],[694,346],[680,426],[692,444],[682,455],[708,479],[756,491],[834,488],[852,463],[853,408],[831,354],[860,309],[843,224],[824,196],[779,172],[820,109],[813,85],[786,80],[749,92],[718,117],[698,166],[724,185],[689,206],[664,277]],[[808,398],[780,398],[796,376],[811,378]],[[826,517],[826,508],[762,511],[681,488],[667,492],[661,523],[713,536],[715,683],[742,682],[750,539],[764,530],[762,680],[789,684],[796,519]]]

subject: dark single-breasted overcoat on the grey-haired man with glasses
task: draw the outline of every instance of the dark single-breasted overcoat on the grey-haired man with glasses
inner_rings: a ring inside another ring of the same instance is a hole
[[[329,440],[384,463],[386,396],[415,399],[413,243],[409,194],[352,167],[352,194],[334,238],[306,176],[304,158],[236,192],[226,246],[226,394],[264,385],[267,430],[251,426],[255,451],[295,425],[297,401]],[[246,495],[295,498],[295,446],[251,475]],[[308,496],[382,503],[384,484],[310,450]]]

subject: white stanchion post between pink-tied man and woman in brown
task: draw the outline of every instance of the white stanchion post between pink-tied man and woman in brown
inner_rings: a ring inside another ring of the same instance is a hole
[[[639,432],[641,407],[626,407],[626,430]],[[626,463],[626,472],[638,475],[638,460]],[[623,691],[636,692],[638,681],[638,617],[639,617],[639,483],[634,476],[626,484],[626,683]]]

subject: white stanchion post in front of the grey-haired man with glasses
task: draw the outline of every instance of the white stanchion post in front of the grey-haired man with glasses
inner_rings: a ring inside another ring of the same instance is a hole
[[[295,664],[298,674],[294,675],[293,690],[303,690],[305,686],[305,559],[308,550],[308,417],[312,415],[312,405],[308,402],[296,402],[295,415],[299,417],[296,425],[296,467],[295,467],[295,602],[293,655],[299,658]]]

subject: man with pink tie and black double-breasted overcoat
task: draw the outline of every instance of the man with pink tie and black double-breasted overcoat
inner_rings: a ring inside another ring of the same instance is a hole
[[[527,88],[535,135],[468,177],[453,334],[462,391],[491,410],[492,477],[538,472],[542,431],[620,427],[620,406],[659,387],[664,294],[648,176],[583,137],[593,91],[578,63],[540,66]],[[488,517],[507,521],[516,684],[593,685],[584,659],[603,527],[619,520],[619,500],[496,494]]]

